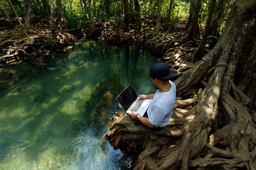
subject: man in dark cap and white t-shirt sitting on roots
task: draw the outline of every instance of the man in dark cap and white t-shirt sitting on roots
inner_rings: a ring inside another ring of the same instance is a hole
[[[170,81],[177,72],[169,69],[167,64],[161,62],[149,69],[149,77],[153,83],[155,94],[139,95],[139,98],[153,98],[144,116],[137,112],[129,113],[133,119],[139,120],[149,128],[165,127],[173,113],[176,85]]]

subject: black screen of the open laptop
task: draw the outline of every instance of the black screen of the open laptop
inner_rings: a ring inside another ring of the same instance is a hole
[[[117,101],[119,101],[119,103],[122,105],[124,111],[127,111],[129,106],[132,105],[132,102],[134,102],[136,98],[137,94],[132,88],[132,85],[129,84],[127,88],[125,88],[124,91],[122,91],[122,93],[117,96]]]

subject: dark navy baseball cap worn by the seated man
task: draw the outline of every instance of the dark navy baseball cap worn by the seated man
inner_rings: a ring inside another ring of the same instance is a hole
[[[164,62],[154,64],[149,70],[149,76],[153,79],[171,79],[175,77],[177,72],[169,69],[168,65]]]

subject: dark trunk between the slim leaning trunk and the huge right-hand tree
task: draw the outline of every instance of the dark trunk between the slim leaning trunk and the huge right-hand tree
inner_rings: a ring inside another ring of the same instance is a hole
[[[216,10],[213,16],[213,21],[210,24],[210,33],[208,35],[213,35],[216,37],[220,36],[220,25],[224,16],[225,4],[227,4],[225,0],[218,1]]]

